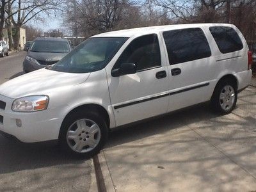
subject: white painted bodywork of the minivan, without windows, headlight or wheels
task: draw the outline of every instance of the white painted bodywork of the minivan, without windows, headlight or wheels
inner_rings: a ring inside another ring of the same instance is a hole
[[[234,29],[241,38],[243,49],[221,53],[209,31],[212,26]],[[191,28],[202,29],[211,56],[188,61],[186,65],[170,65],[163,32]],[[113,66],[125,48],[132,40],[148,34],[157,35],[161,66],[113,77]],[[127,37],[127,41],[101,70],[77,74],[42,68],[1,84],[0,101],[5,106],[4,109],[0,108],[0,116],[3,116],[0,131],[29,143],[58,140],[65,116],[79,106],[86,105],[102,109],[111,129],[211,100],[216,84],[223,77],[234,77],[237,91],[248,86],[252,78],[252,70],[248,68],[246,40],[232,24],[156,26],[113,31],[94,37]],[[173,76],[173,68],[179,68],[180,74]],[[157,72],[163,71],[166,77],[156,78]],[[15,99],[29,95],[47,95],[47,109],[35,112],[12,110]],[[20,127],[17,125],[19,123]]]

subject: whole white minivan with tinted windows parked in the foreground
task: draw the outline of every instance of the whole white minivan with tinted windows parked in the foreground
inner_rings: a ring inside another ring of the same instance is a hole
[[[97,154],[114,127],[211,101],[230,113],[252,78],[232,24],[182,24],[92,36],[58,63],[0,86],[0,131]]]

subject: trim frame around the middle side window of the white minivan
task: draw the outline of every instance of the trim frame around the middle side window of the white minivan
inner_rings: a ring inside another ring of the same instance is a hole
[[[205,58],[199,58],[199,59],[196,59],[196,60],[189,60],[189,61],[185,61],[185,62],[179,62],[179,63],[172,63],[169,59],[169,54],[168,54],[168,49],[167,49],[167,46],[166,46],[166,42],[164,40],[164,32],[169,32],[169,31],[177,31],[177,30],[186,30],[186,29],[200,29],[202,31],[202,33],[204,34],[205,36],[205,40],[207,41],[207,44],[208,44],[208,47],[209,47],[209,50],[210,50],[210,55],[205,57]],[[190,61],[197,61],[197,60],[203,60],[203,59],[206,59],[206,58],[210,58],[212,56],[212,49],[211,49],[211,45],[209,44],[209,40],[207,39],[207,33],[205,33],[205,30],[203,28],[200,28],[200,27],[196,27],[196,28],[180,28],[180,29],[172,29],[172,30],[168,30],[168,31],[162,31],[162,36],[163,36],[163,44],[165,46],[165,49],[166,49],[166,57],[168,58],[168,62],[169,62],[169,65],[172,66],[172,65],[178,65],[178,64],[181,64],[181,63],[188,63]]]

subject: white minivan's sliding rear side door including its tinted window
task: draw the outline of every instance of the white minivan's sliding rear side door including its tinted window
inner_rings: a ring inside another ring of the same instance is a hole
[[[209,100],[214,58],[203,29],[164,31],[163,38],[169,61],[168,111]]]

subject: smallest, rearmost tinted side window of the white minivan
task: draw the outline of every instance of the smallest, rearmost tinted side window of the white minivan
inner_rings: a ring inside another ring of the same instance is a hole
[[[243,49],[243,43],[233,28],[211,27],[210,31],[220,52],[228,53]]]

